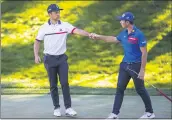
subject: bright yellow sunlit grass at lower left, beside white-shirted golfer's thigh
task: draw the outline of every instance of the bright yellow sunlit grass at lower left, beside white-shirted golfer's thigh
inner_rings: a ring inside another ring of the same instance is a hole
[[[22,74],[21,74],[22,73]],[[11,84],[13,87],[47,88],[49,86],[47,73],[43,64],[31,68],[23,68],[21,71],[8,76],[2,75],[2,84]]]

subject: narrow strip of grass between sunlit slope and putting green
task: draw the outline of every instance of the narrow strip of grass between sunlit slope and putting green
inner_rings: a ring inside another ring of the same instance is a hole
[[[147,89],[151,96],[159,96],[160,94],[152,88]],[[169,89],[161,89],[166,95],[171,96],[171,91]],[[70,93],[73,95],[114,95],[116,93],[115,88],[89,88],[89,87],[70,87]],[[50,94],[49,89],[29,89],[29,88],[5,88],[2,89],[2,95],[8,94]],[[62,89],[59,88],[59,94],[62,94]],[[137,95],[137,92],[133,88],[125,90],[126,95]]]

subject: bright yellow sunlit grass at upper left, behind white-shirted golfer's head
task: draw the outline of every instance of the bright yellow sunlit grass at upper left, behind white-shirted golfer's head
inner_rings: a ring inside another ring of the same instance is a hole
[[[76,9],[75,12],[82,14],[82,7],[86,7],[95,2],[96,1],[87,1],[84,2],[84,4],[81,4],[81,1],[68,1],[70,6],[66,4],[66,2],[59,2],[59,6],[64,8],[61,13],[62,20],[70,21],[71,23],[78,21],[77,14],[71,14],[71,10],[76,7],[81,7],[80,9]],[[26,9],[21,13],[17,13],[15,15],[11,13],[5,13],[1,22],[3,28],[2,46],[8,46],[11,44],[28,44],[33,42],[40,25],[48,20],[48,14],[46,10],[47,5],[51,3],[51,1],[34,2],[34,7],[33,4],[26,4]],[[63,17],[63,15],[66,17]],[[6,22],[5,19],[10,17],[15,18],[15,21]]]

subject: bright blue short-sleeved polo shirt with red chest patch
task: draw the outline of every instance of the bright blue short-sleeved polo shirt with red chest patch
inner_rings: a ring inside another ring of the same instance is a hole
[[[140,47],[144,47],[147,44],[146,38],[142,31],[136,26],[133,26],[133,30],[128,34],[128,30],[124,29],[119,35],[117,35],[124,48],[123,62],[141,62],[142,52]]]

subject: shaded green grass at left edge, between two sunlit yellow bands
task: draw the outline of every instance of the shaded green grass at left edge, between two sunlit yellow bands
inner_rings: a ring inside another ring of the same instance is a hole
[[[12,45],[1,50],[1,70],[3,75],[9,75],[35,65],[33,44]]]

